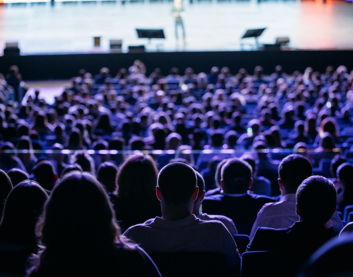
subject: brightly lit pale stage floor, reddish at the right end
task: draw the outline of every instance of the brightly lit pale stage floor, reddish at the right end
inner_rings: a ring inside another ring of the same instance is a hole
[[[289,37],[291,49],[353,49],[352,2],[184,0],[183,5],[186,45],[175,39],[168,1],[1,5],[0,54],[6,42],[18,42],[22,55],[108,52],[111,39],[122,39],[124,52],[132,45],[148,51],[252,50],[255,40],[241,37],[258,28],[266,28],[260,43]],[[148,43],[136,28],[163,29],[166,39]],[[101,37],[100,47],[93,45],[95,36]]]

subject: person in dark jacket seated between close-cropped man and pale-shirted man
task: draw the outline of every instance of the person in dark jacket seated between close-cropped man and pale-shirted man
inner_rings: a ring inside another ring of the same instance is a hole
[[[252,168],[247,162],[229,159],[221,169],[221,193],[205,197],[202,211],[230,218],[239,234],[249,235],[261,207],[274,201],[268,196],[248,193],[251,176]]]

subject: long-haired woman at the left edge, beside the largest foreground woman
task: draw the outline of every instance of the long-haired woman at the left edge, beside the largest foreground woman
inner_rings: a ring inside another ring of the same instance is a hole
[[[0,275],[25,272],[27,257],[37,252],[34,229],[47,198],[32,180],[20,182],[9,193],[0,223]]]

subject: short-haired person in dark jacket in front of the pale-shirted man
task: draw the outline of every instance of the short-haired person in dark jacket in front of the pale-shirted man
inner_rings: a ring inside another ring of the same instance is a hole
[[[331,220],[336,211],[336,190],[322,176],[305,179],[296,193],[299,221],[285,229],[259,227],[247,251],[303,251],[313,253],[334,237]]]

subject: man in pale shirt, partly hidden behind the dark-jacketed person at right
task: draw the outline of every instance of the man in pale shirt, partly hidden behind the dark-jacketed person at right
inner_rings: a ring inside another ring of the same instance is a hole
[[[258,227],[283,229],[299,220],[296,214],[296,191],[299,185],[312,175],[312,172],[310,161],[302,155],[292,154],[281,161],[278,167],[281,197],[278,202],[263,205],[251,229],[250,240]],[[332,216],[331,221],[336,232],[343,228],[337,213]]]

